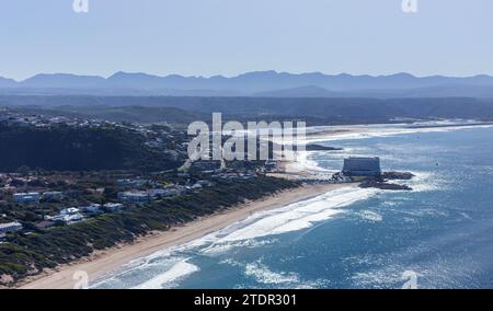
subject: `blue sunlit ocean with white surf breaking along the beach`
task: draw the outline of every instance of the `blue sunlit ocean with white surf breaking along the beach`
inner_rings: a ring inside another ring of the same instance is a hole
[[[341,135],[309,161],[378,156],[412,192],[341,188],[129,263],[93,288],[493,288],[493,128]]]

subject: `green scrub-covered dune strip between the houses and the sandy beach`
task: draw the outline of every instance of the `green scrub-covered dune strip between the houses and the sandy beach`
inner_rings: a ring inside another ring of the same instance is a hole
[[[68,227],[55,227],[27,235],[10,234],[0,244],[0,276],[20,279],[43,268],[55,267],[118,242],[129,242],[152,230],[191,221],[228,208],[244,199],[256,199],[296,184],[286,180],[257,177],[250,181],[218,181],[186,196],[154,201],[121,214],[106,214]]]

